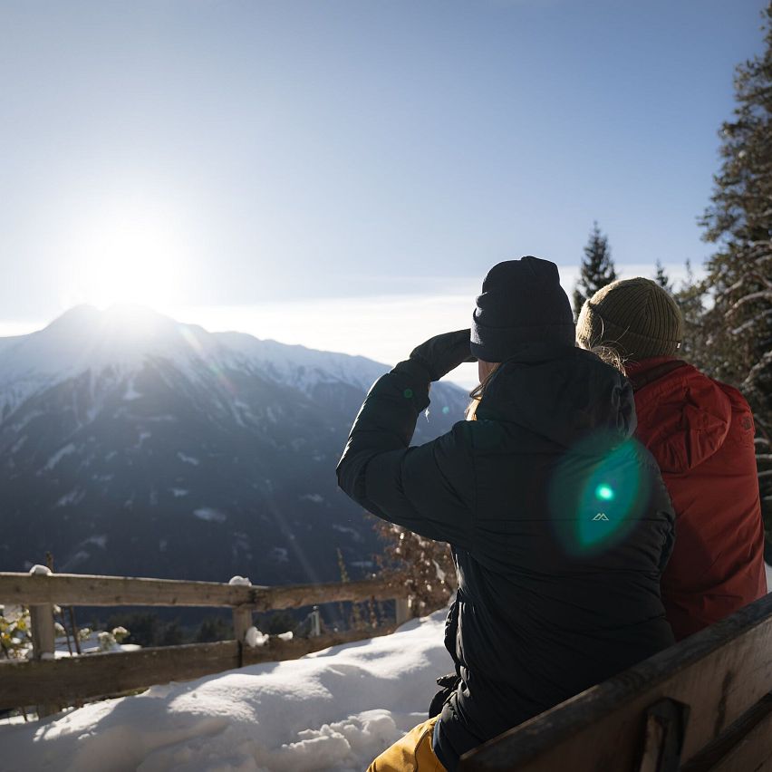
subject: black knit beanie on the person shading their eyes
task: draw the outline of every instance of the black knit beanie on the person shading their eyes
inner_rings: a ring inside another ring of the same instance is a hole
[[[574,313],[549,260],[527,256],[494,265],[477,305],[470,348],[484,362],[504,362],[523,343],[574,345]]]

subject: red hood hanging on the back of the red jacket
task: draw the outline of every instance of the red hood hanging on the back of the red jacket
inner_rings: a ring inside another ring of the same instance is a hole
[[[667,362],[655,357],[629,366],[634,384],[638,436],[663,472],[682,474],[710,458],[724,444],[732,422],[730,387],[683,363],[649,382]]]

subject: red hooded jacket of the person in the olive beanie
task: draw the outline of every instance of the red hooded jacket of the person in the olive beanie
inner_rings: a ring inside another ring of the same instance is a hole
[[[638,439],[676,513],[661,588],[680,641],[767,593],[753,416],[737,389],[686,362],[655,357],[627,371]]]

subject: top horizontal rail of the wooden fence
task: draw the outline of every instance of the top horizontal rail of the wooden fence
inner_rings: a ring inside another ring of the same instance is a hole
[[[384,600],[407,590],[381,579],[278,587],[182,582],[93,574],[0,573],[0,603],[89,606],[250,606],[253,611],[299,608],[315,603]]]

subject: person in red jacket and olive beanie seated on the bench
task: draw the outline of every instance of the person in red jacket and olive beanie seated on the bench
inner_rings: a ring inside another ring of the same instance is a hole
[[[767,593],[753,416],[737,389],[676,358],[680,310],[650,279],[585,302],[576,341],[618,354],[635,395],[636,436],[660,465],[676,513],[661,579],[677,641]]]

